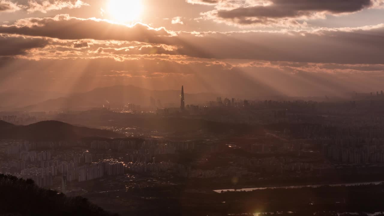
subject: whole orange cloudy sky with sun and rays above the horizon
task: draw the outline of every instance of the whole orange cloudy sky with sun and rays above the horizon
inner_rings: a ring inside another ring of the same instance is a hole
[[[0,0],[0,92],[384,89],[384,0]]]

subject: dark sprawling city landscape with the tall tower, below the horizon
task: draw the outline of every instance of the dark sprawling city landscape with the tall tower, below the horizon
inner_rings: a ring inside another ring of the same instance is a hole
[[[0,213],[75,214],[89,200],[119,215],[380,215],[381,91],[319,102],[219,96],[185,111],[180,102],[0,112]],[[41,208],[44,194],[63,207]]]

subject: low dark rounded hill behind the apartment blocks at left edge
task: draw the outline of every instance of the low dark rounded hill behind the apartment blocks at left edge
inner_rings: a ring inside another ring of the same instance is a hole
[[[31,125],[13,125],[0,121],[0,139],[69,141],[86,137],[122,137],[112,131],[73,126],[61,121],[41,121]]]

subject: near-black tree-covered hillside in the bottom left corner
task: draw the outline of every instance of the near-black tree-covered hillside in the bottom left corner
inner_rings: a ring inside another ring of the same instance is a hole
[[[69,198],[42,189],[32,180],[0,174],[0,215],[8,216],[111,216],[80,196]]]

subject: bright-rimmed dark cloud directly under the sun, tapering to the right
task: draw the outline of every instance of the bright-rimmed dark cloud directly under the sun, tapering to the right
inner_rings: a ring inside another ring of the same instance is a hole
[[[0,25],[0,33],[59,38],[63,40],[95,39],[157,43],[161,36],[170,36],[164,28],[151,28],[111,23],[95,18],[81,19],[69,15],[53,18],[28,18],[14,25]]]

